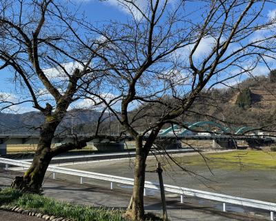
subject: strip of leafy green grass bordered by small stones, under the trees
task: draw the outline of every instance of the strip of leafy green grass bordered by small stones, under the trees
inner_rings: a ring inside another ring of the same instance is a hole
[[[43,195],[22,193],[15,189],[0,191],[0,206],[18,206],[21,209],[36,211],[56,217],[71,218],[77,221],[126,221],[124,211],[104,207],[83,206],[68,202],[59,202]],[[156,215],[147,214],[148,221],[161,220]]]

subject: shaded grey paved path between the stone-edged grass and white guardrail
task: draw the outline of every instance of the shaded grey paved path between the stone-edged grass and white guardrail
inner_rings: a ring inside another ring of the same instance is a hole
[[[14,175],[19,172],[0,171],[0,188],[10,186]],[[116,186],[117,187],[117,186]],[[78,204],[90,204],[94,206],[106,206],[110,208],[125,209],[130,200],[131,190],[115,189],[110,190],[102,186],[92,184],[77,184],[68,180],[51,180],[49,177],[43,185],[44,193],[47,196],[58,200],[74,202]],[[237,213],[223,213],[213,209],[213,205],[198,204],[194,199],[186,198],[184,204],[179,203],[178,195],[166,195],[168,204],[168,215],[170,220],[206,220],[206,221],[229,221],[229,220],[269,220],[268,216],[257,216],[252,213],[237,215]],[[210,207],[211,206],[211,207]],[[145,209],[160,213],[161,203],[159,198],[145,197]],[[2,217],[0,213],[0,217]],[[1,220],[1,219],[0,219]],[[15,219],[14,219],[15,220]],[[26,219],[29,220],[29,219]],[[8,220],[11,221],[11,220]]]

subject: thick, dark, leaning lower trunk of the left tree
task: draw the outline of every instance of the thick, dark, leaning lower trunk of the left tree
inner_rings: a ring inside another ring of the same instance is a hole
[[[52,153],[50,153],[52,137],[54,137],[56,126],[46,126],[41,129],[39,144],[37,151],[34,153],[34,159],[28,171],[21,177],[15,177],[12,182],[12,188],[31,193],[41,193],[43,178],[50,161]]]

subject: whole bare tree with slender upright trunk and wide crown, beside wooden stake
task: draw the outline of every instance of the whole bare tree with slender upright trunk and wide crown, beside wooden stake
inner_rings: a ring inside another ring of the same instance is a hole
[[[100,99],[135,140],[127,214],[144,220],[146,158],[159,131],[165,124],[181,124],[177,117],[188,113],[204,88],[228,84],[266,60],[275,49],[268,47],[275,38],[275,19],[266,19],[264,12],[270,1],[117,2],[132,19],[107,23],[99,35],[109,43],[101,50],[85,46],[108,68],[101,81],[105,93],[84,91]],[[130,114],[138,105],[139,111]],[[148,125],[142,131],[139,120]]]

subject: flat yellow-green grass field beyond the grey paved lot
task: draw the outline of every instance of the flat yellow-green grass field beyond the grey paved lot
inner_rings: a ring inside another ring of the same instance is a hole
[[[276,152],[244,150],[222,153],[203,153],[203,155],[204,158],[199,154],[184,155],[174,158],[182,166],[197,167],[208,164],[211,169],[243,169],[246,171],[276,170]]]

